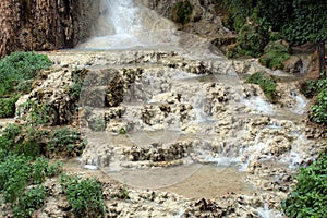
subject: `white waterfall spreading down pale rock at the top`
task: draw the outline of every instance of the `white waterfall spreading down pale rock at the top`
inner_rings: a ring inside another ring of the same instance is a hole
[[[174,25],[154,11],[136,5],[133,0],[101,0],[98,21],[92,37],[82,49],[126,49],[171,45]]]

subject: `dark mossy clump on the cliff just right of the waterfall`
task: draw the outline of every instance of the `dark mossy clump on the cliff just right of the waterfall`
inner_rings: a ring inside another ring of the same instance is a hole
[[[181,24],[186,24],[191,20],[193,7],[189,0],[179,1],[172,9],[172,21]]]

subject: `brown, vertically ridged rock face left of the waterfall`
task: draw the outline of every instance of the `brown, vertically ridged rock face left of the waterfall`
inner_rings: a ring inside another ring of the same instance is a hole
[[[98,17],[99,1],[0,2],[0,57],[15,50],[72,48],[88,37]]]

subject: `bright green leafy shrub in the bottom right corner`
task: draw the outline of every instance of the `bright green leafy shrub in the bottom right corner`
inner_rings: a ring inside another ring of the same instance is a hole
[[[327,214],[327,155],[300,169],[298,184],[282,202],[288,217],[326,217]]]

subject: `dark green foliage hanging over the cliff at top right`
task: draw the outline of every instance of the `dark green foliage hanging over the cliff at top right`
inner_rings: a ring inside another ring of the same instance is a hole
[[[229,11],[225,25],[239,32],[239,46],[233,55],[258,57],[268,41],[280,38],[291,45],[315,43],[319,52],[320,75],[326,75],[327,4],[324,0],[232,0],[225,3]],[[244,28],[247,29],[245,35]]]

